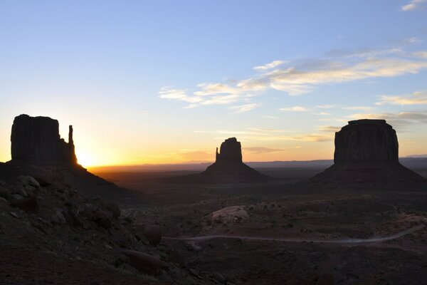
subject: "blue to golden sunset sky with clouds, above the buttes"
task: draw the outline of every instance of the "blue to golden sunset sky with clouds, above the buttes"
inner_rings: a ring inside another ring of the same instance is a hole
[[[22,113],[86,167],[331,159],[360,118],[427,154],[427,0],[1,0],[0,161]]]

